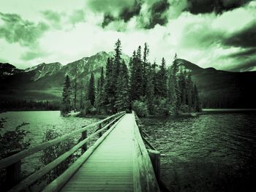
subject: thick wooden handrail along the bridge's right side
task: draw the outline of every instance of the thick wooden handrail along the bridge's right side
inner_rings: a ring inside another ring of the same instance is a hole
[[[132,112],[135,118],[135,112]],[[139,175],[137,176],[140,180],[140,190],[141,191],[159,191],[159,186],[157,184],[157,178],[154,174],[154,168],[151,164],[151,159],[148,155],[148,150],[146,149],[143,139],[140,136],[140,131],[138,125],[134,119],[134,134],[135,134],[135,149],[137,155],[137,163],[139,169]],[[139,190],[139,191],[140,191]],[[138,191],[138,189],[135,189]]]

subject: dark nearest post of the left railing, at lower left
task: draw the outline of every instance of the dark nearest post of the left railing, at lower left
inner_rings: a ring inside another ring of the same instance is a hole
[[[20,150],[12,150],[7,153],[7,157],[19,153]],[[15,164],[7,166],[6,183],[7,188],[10,188],[20,182],[20,167],[21,161],[17,161]]]

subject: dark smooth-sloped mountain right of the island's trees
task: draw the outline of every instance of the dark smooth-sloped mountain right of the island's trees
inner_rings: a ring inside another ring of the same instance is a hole
[[[178,59],[178,64],[192,72],[204,107],[256,108],[256,72],[203,69],[184,59]]]

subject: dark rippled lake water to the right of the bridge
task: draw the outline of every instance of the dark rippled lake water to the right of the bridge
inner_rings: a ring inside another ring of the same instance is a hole
[[[255,112],[146,118],[143,124],[162,153],[162,180],[171,191],[256,191]]]

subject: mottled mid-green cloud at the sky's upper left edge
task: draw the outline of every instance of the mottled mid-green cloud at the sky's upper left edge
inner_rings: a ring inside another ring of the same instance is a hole
[[[26,47],[35,45],[37,39],[49,28],[45,23],[33,23],[29,20],[23,20],[17,14],[0,12],[0,20],[4,22],[0,26],[0,38],[4,38],[10,43],[18,42]]]

